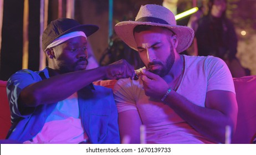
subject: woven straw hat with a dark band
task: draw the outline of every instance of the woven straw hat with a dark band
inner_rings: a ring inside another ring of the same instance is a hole
[[[176,48],[178,53],[186,50],[194,38],[194,30],[177,25],[175,16],[169,9],[156,4],[147,4],[140,7],[135,21],[124,21],[115,25],[116,34],[134,50],[137,50],[134,39],[134,28],[137,25],[152,25],[172,30],[178,38],[178,46]]]

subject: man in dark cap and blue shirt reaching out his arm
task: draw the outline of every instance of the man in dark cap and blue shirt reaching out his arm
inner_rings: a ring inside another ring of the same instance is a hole
[[[86,70],[87,37],[98,29],[69,18],[47,26],[47,68],[20,70],[8,80],[12,127],[6,143],[120,143],[112,90],[91,82],[135,73],[124,60]]]

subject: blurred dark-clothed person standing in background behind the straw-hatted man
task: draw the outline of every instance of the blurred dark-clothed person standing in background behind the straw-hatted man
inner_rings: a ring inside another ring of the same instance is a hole
[[[188,27],[195,31],[193,45],[197,45],[193,48],[197,51],[188,54],[217,56],[227,63],[233,77],[247,75],[235,56],[238,40],[233,23],[226,17],[227,0],[209,0],[206,16],[203,16],[203,9],[193,14],[188,22]]]

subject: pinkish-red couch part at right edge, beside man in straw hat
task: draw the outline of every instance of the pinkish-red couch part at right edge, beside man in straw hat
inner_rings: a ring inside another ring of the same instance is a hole
[[[256,76],[234,78],[237,94],[237,129],[232,143],[252,143],[256,133]]]

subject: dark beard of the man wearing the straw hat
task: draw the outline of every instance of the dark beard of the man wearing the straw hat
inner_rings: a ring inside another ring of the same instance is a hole
[[[171,68],[172,68],[172,65],[173,65],[173,63],[174,63],[174,60],[175,60],[174,57],[175,57],[175,56],[174,56],[173,54],[170,54],[170,55],[167,57],[167,59],[166,59],[166,61],[165,61],[165,64],[161,63],[160,61],[153,61],[152,63],[149,63],[149,64],[147,65],[147,67],[150,68],[151,65],[160,65],[160,66],[161,66],[160,69],[156,69],[156,70],[151,70],[151,69],[150,69],[150,71],[151,71],[152,73],[154,73],[154,74],[159,75],[160,77],[163,77],[163,76],[167,75],[167,74],[170,72],[170,70],[171,70]]]

